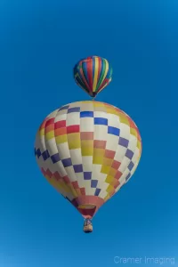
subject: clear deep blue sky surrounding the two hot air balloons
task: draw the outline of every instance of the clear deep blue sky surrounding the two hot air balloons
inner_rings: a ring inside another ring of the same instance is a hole
[[[177,12],[176,0],[0,2],[0,266],[129,265],[115,256],[178,264]],[[134,119],[143,150],[85,235],[80,214],[40,174],[34,141],[53,109],[89,99],[72,68],[93,54],[114,70],[97,100]]]

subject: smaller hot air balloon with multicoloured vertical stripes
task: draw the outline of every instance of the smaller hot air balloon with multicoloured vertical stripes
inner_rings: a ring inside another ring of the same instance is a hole
[[[77,85],[93,98],[109,85],[111,76],[112,68],[109,66],[109,62],[98,56],[81,60],[74,67],[74,78]]]

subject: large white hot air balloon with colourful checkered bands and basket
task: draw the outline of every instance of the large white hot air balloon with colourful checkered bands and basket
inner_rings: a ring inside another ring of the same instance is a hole
[[[128,182],[142,153],[137,126],[125,112],[98,101],[56,109],[36,134],[36,161],[45,178],[93,231],[98,209]]]

